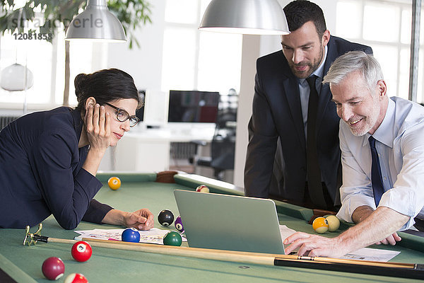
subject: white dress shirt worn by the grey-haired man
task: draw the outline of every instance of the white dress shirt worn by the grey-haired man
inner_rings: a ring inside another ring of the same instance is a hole
[[[356,208],[375,209],[371,183],[370,134],[355,137],[340,120],[343,185],[341,209],[337,216],[352,221]],[[382,124],[372,135],[382,171],[384,194],[378,206],[410,216],[400,229],[409,229],[418,214],[424,216],[424,107],[399,97],[389,98]]]

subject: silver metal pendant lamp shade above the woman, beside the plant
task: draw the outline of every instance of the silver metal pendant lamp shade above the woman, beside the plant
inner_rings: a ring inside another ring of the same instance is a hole
[[[105,0],[88,0],[86,9],[69,24],[65,40],[126,42],[121,22],[112,14]]]

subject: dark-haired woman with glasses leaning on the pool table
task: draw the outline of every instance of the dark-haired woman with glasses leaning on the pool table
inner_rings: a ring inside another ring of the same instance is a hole
[[[123,212],[93,199],[108,146],[139,119],[139,94],[124,71],[78,74],[78,105],[33,112],[0,132],[0,227],[24,229],[53,214],[64,229],[81,220],[148,230],[148,209]]]

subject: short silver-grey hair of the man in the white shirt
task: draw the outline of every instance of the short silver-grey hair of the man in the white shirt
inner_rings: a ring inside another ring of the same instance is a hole
[[[382,68],[377,59],[363,51],[351,51],[338,57],[324,76],[322,83],[338,85],[348,74],[360,71],[367,88],[372,92],[377,86],[377,82],[384,79]]]

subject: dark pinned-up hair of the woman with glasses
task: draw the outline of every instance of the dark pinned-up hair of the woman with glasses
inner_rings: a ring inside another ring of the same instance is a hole
[[[78,100],[76,110],[83,115],[86,112],[84,107],[86,100],[91,96],[100,105],[122,98],[131,98],[137,100],[141,107],[139,91],[134,84],[134,79],[119,69],[104,69],[93,74],[78,74],[74,83]]]

